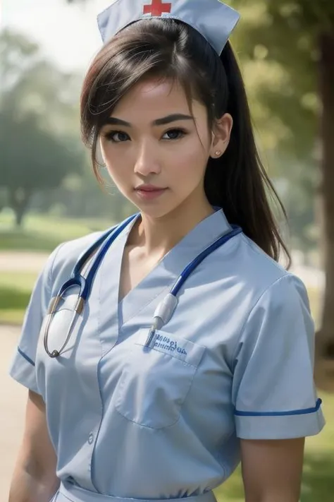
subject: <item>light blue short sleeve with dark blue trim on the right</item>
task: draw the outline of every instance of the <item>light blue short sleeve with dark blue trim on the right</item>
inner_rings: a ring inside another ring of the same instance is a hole
[[[232,392],[238,437],[288,439],[321,431],[314,341],[306,289],[287,274],[262,294],[238,341]]]

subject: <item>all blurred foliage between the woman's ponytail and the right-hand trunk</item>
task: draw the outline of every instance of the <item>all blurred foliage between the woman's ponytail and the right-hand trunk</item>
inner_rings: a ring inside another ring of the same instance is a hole
[[[260,149],[285,181],[280,193],[294,244],[316,244],[314,197],[321,182],[319,38],[334,30],[332,0],[227,0],[242,18],[233,34]],[[274,168],[274,169],[273,169]],[[282,184],[282,183],[280,183]]]

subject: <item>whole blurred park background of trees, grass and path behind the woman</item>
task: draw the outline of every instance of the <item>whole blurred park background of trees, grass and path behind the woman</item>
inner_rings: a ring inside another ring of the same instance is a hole
[[[203,0],[205,1],[205,0]],[[104,190],[80,141],[79,97],[111,0],[2,0],[0,27],[0,499],[23,431],[26,392],[6,375],[32,285],[62,241],[133,211]],[[149,3],[149,2],[147,2]],[[307,441],[302,502],[334,491],[334,2],[231,0],[259,150],[285,204],[292,271],[316,321],[323,433]],[[219,502],[241,502],[238,470]]]

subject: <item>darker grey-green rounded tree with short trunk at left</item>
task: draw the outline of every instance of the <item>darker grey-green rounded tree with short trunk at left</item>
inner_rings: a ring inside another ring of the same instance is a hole
[[[0,151],[0,186],[6,188],[17,225],[34,193],[59,186],[80,167],[78,151],[42,130],[32,114],[13,121],[0,113]]]

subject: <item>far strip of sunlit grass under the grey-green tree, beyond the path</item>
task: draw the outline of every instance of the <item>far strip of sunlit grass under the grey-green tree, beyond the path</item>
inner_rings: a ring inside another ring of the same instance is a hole
[[[52,251],[58,244],[90,232],[111,227],[111,220],[64,219],[27,215],[22,229],[13,227],[13,217],[0,213],[0,251]]]

